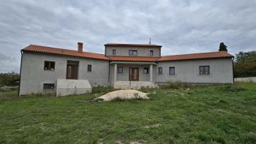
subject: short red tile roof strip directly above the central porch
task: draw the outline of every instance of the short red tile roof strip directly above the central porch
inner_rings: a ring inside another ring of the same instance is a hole
[[[147,57],[147,56],[108,56],[110,61],[157,61],[159,57]]]

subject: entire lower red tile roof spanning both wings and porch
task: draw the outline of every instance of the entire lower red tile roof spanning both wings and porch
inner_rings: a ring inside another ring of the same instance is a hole
[[[162,57],[148,57],[148,56],[105,56],[99,53],[83,52],[78,53],[77,50],[67,50],[61,48],[45,47],[40,45],[29,45],[23,48],[22,51],[34,52],[34,53],[51,53],[64,56],[76,56],[83,58],[96,58],[108,61],[181,61],[190,59],[204,59],[204,58],[232,58],[230,53],[225,51],[221,52],[209,52],[209,53],[190,53],[184,55],[162,56]]]

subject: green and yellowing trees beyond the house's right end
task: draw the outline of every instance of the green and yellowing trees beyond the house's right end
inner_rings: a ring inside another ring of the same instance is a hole
[[[256,76],[256,51],[239,52],[234,63],[234,77]]]

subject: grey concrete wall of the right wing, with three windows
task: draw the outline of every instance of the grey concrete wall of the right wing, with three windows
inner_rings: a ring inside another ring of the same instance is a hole
[[[210,66],[210,75],[200,75],[199,66]],[[162,75],[158,74],[162,67]],[[175,67],[175,75],[169,75],[169,67]],[[166,61],[157,64],[156,82],[168,80],[184,83],[233,83],[233,61],[231,58],[190,61]]]

